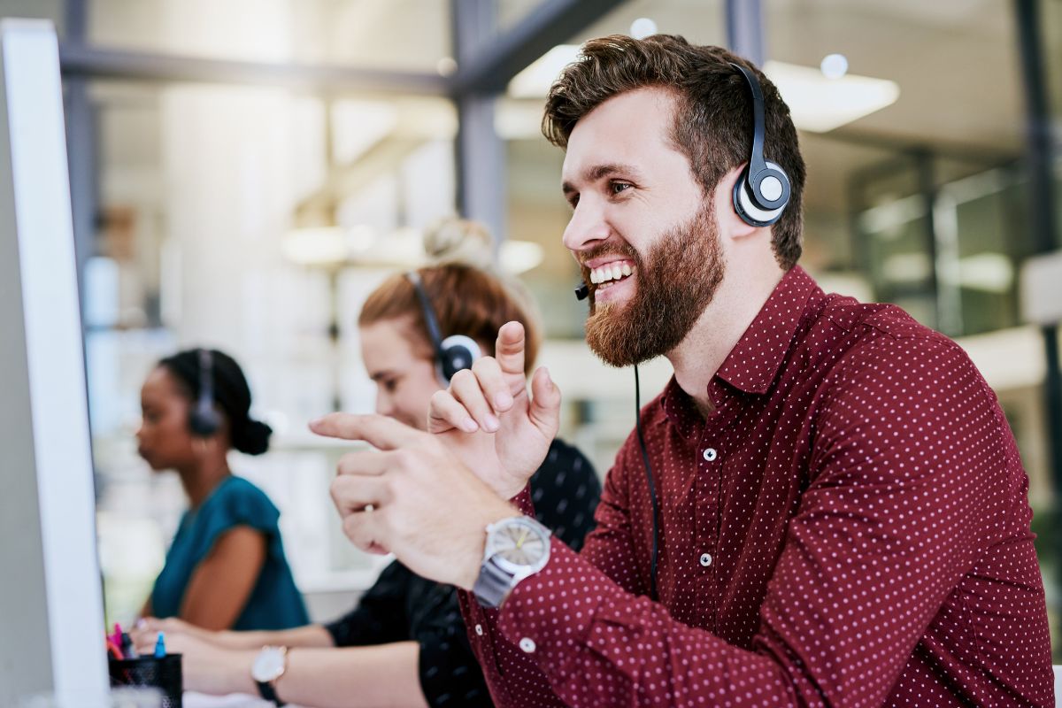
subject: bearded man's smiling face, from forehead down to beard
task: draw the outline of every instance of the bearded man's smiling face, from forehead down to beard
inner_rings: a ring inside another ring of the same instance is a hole
[[[564,244],[590,289],[586,341],[614,366],[673,349],[722,280],[710,198],[670,140],[675,109],[666,90],[629,91],[568,139]]]

